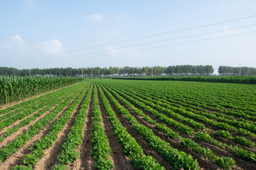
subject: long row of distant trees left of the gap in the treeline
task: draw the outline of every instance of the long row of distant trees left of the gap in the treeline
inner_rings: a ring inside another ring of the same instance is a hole
[[[86,68],[47,68],[22,69],[14,67],[0,67],[0,76],[173,76],[173,75],[209,75],[214,72],[211,65],[177,65],[169,67],[86,67]]]

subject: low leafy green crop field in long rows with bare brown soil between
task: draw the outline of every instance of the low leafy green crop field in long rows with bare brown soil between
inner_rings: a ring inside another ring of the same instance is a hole
[[[256,169],[256,85],[90,79],[0,110],[0,169]]]

